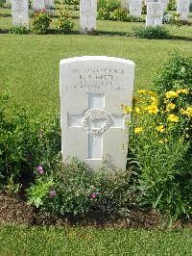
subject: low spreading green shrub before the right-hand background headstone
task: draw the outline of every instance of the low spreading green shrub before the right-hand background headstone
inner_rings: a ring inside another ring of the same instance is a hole
[[[134,28],[133,34],[136,38],[165,39],[170,38],[169,31],[163,26]]]

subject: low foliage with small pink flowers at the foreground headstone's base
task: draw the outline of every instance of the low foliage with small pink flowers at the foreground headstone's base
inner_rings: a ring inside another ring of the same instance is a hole
[[[100,214],[125,214],[132,204],[130,171],[118,171],[111,175],[107,170],[93,172],[77,160],[73,160],[71,165],[55,168],[52,173],[54,185],[49,193],[46,191],[47,196],[43,200],[43,209],[48,213],[58,217],[83,216],[93,211]],[[37,192],[38,179],[36,178],[36,184],[30,188],[32,192],[29,198],[34,198],[33,192]],[[50,176],[45,176],[45,183],[47,179]],[[41,193],[39,196],[42,197]]]

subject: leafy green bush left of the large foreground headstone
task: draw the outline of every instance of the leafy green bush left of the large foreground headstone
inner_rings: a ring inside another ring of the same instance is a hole
[[[18,191],[33,179],[34,166],[54,166],[60,152],[59,118],[41,123],[24,109],[9,111],[11,95],[0,94],[0,184]],[[36,115],[36,114],[35,114]]]

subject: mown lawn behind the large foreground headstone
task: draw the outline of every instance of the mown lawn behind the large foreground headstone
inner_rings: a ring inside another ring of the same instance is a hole
[[[38,112],[60,107],[60,60],[74,56],[107,55],[136,64],[135,90],[151,88],[157,68],[171,53],[190,55],[191,41],[149,40],[84,35],[0,36],[0,90],[11,90],[12,106]]]

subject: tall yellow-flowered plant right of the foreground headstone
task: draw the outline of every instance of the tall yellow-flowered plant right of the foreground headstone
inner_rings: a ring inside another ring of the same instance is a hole
[[[129,124],[131,163],[139,173],[138,201],[145,207],[153,206],[171,225],[172,220],[192,215],[188,129],[192,106],[180,106],[189,91],[168,91],[163,104],[153,91],[138,93],[140,100],[132,108]],[[124,111],[129,114],[131,109],[124,106]]]

